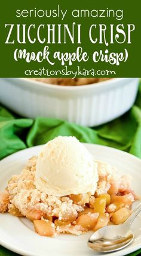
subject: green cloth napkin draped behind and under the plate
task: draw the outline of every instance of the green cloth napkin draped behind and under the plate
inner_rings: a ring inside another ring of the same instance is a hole
[[[130,111],[95,128],[81,127],[59,119],[20,118],[0,106],[0,159],[26,147],[44,144],[58,135],[74,135],[81,142],[115,147],[141,159],[141,83],[136,103]],[[141,249],[130,255],[140,253]],[[17,254],[0,246],[0,256],[14,255]]]

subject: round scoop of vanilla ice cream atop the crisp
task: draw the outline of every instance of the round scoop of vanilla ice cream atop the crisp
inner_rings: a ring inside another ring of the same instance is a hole
[[[48,195],[63,196],[96,191],[97,164],[75,137],[54,138],[39,153],[35,185]]]

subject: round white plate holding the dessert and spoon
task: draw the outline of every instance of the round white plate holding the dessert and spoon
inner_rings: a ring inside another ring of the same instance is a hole
[[[111,147],[85,144],[94,158],[107,161],[119,169],[120,173],[133,176],[133,189],[141,195],[141,161],[140,159]],[[31,147],[14,153],[0,162],[1,191],[13,174],[22,170],[27,159],[37,155],[41,146]],[[92,256],[100,255],[87,247],[87,240],[91,233],[81,236],[63,234],[56,238],[42,237],[33,231],[32,222],[24,218],[17,218],[8,213],[0,214],[0,243],[8,249],[22,255],[30,256]],[[125,255],[141,248],[141,216],[133,222],[132,230],[135,234],[134,242],[121,251],[110,255]]]

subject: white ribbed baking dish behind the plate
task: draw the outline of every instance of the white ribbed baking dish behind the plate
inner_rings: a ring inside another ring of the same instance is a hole
[[[93,127],[133,106],[139,79],[121,78],[84,86],[57,86],[29,79],[0,79],[0,102],[27,118],[46,116]]]

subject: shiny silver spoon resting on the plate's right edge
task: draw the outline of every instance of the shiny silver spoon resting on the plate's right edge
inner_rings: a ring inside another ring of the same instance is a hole
[[[113,252],[130,245],[134,239],[130,225],[140,212],[141,203],[133,210],[124,224],[109,225],[94,232],[88,239],[88,246],[97,252]]]

